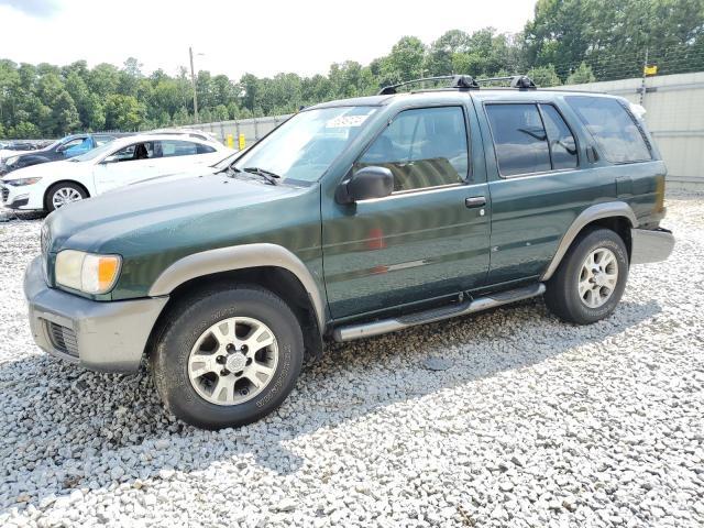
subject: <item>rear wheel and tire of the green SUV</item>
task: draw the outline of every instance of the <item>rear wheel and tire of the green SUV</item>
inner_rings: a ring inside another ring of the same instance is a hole
[[[614,311],[627,279],[628,252],[622,238],[608,229],[588,230],[573,242],[548,282],[546,305],[564,321],[591,324]]]

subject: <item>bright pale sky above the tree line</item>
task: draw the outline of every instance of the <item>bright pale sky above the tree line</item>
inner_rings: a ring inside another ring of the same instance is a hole
[[[168,74],[188,66],[238,79],[244,73],[326,74],[364,65],[404,35],[426,44],[451,29],[518,32],[535,0],[0,0],[0,58],[16,63],[121,66]]]

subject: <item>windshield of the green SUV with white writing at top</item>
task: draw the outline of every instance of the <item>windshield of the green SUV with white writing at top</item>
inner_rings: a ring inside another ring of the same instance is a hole
[[[300,112],[245,152],[235,168],[256,167],[280,179],[316,182],[359,134],[373,107],[336,107]]]

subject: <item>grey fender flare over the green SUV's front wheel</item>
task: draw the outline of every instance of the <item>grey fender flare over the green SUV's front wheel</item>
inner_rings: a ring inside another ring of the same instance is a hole
[[[300,280],[316,311],[318,328],[320,332],[323,332],[326,328],[326,305],[316,279],[300,258],[286,248],[276,244],[233,245],[184,256],[156,277],[150,288],[148,296],[161,297],[169,295],[182,284],[205,275],[264,266],[284,268]]]

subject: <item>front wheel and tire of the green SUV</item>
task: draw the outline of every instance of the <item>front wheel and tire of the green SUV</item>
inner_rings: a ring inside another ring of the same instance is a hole
[[[169,317],[150,363],[162,400],[180,420],[205,429],[243,426],[272,413],[293,391],[302,365],[302,332],[290,308],[271,292],[257,286],[211,292],[188,299]],[[273,344],[252,350],[260,344],[248,336],[257,331],[261,342],[273,334]],[[223,352],[224,342],[234,348]],[[270,374],[258,372],[263,369]]]

